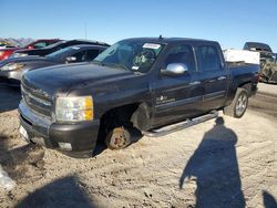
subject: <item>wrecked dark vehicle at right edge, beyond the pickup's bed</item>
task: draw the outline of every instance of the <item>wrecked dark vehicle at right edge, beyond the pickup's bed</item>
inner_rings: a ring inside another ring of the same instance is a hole
[[[268,44],[258,42],[247,42],[245,50],[257,51],[260,54],[260,81],[267,83],[277,83],[276,54]]]

